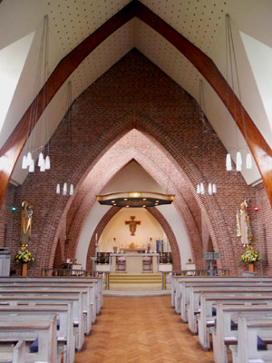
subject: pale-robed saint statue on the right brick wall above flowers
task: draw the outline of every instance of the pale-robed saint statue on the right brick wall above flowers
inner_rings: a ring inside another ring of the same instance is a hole
[[[239,203],[239,210],[236,215],[237,220],[237,236],[240,238],[243,246],[248,246],[253,240],[253,233],[250,226],[248,217],[248,202],[241,201]]]

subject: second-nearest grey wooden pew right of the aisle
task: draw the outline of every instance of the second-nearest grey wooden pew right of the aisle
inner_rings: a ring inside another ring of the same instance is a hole
[[[216,326],[211,328],[212,346],[215,363],[228,363],[226,344],[238,343],[238,330],[234,326],[238,321],[238,314],[247,319],[272,318],[272,306],[267,305],[224,305],[218,303],[216,307]],[[232,329],[235,328],[235,329]]]

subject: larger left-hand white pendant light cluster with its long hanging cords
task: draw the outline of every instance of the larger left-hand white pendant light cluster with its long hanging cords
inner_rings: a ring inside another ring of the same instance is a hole
[[[48,126],[48,87],[46,81],[48,79],[48,51],[49,51],[49,26],[48,26],[48,15],[44,16],[44,27],[41,38],[38,64],[35,75],[34,82],[34,98],[44,85],[44,92],[42,98],[42,108],[44,110],[42,114],[42,135],[41,135],[41,146],[35,147],[35,131],[34,125],[37,122],[37,108],[38,101],[36,101],[31,106],[31,112],[28,123],[27,130],[27,140],[29,140],[28,152],[23,156],[22,169],[27,169],[29,172],[34,172],[34,152],[39,152],[38,166],[41,172],[50,169],[50,157],[49,157],[49,126]],[[47,141],[47,146],[45,147],[45,142]],[[45,156],[45,152],[47,155]]]

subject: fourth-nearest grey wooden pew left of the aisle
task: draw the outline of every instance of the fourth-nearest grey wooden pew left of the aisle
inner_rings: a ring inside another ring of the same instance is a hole
[[[89,289],[64,289],[56,288],[56,287],[33,287],[33,286],[24,286],[24,287],[13,287],[13,288],[2,288],[0,286],[0,296],[10,296],[10,295],[22,295],[27,294],[29,296],[34,295],[43,295],[43,296],[64,296],[69,299],[69,296],[82,294],[83,296],[83,313],[86,315],[85,321],[85,334],[89,335],[92,329],[92,304],[91,304],[91,295]]]

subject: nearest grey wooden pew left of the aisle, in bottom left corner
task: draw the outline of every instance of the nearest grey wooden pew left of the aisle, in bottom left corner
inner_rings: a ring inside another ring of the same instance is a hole
[[[25,352],[25,360],[29,363],[43,361],[60,363],[61,354],[57,349],[56,315],[42,315],[39,317],[1,317],[0,341],[34,340],[38,338],[39,351]]]

